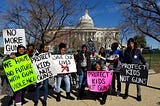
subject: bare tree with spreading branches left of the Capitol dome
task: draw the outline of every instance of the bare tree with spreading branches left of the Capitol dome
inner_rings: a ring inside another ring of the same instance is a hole
[[[9,8],[2,14],[6,28],[24,28],[27,42],[49,43],[59,36],[63,26],[74,24],[73,17],[84,9],[88,0],[9,0]],[[50,30],[56,30],[45,39]]]

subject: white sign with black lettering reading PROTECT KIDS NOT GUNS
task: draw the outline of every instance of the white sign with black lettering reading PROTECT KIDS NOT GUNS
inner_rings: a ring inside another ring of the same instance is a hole
[[[38,56],[33,56],[31,60],[37,73],[37,83],[56,75],[52,66],[53,62],[51,59],[51,53],[41,53]]]

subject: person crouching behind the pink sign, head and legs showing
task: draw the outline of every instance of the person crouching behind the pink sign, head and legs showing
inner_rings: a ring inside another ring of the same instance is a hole
[[[94,67],[95,68],[93,70],[103,71],[100,62],[96,62]],[[108,91],[106,91],[106,92],[94,92],[93,94],[94,94],[94,96],[96,96],[96,99],[100,100],[100,104],[104,105],[106,103],[107,93],[108,93]],[[100,99],[100,98],[102,98],[102,99]]]

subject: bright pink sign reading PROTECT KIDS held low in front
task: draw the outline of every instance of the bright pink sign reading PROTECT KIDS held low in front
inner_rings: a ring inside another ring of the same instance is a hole
[[[108,91],[112,83],[111,71],[87,71],[87,83],[90,91]]]

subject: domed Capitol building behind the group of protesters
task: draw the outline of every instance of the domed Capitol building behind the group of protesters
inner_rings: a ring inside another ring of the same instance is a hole
[[[113,42],[120,42],[119,29],[95,27],[88,10],[85,10],[76,27],[63,27],[58,32],[52,30],[48,34],[51,36],[55,33],[60,36],[49,44],[50,47],[64,42],[67,44],[67,48],[81,49],[82,44],[91,40],[95,44],[96,50],[99,50],[100,47],[111,49]]]

